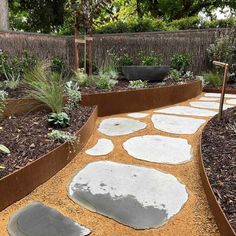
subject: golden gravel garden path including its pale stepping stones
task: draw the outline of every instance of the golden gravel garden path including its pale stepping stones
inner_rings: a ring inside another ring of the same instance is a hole
[[[217,110],[191,106],[215,107],[213,97],[202,93],[167,110],[99,118],[98,130],[71,163],[0,212],[0,235],[8,235],[12,216],[16,222],[19,211],[32,215],[25,207],[40,202],[49,207],[45,212],[78,222],[94,236],[219,236],[199,172],[199,137]],[[24,227],[33,232],[30,224]]]

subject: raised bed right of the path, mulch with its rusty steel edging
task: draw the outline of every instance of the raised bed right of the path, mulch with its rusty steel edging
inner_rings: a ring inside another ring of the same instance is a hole
[[[236,235],[236,108],[213,117],[201,140],[202,179],[222,235]]]

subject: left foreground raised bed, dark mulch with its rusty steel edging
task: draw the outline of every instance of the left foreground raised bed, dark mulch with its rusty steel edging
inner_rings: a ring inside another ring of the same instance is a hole
[[[25,112],[28,108],[24,108]],[[46,111],[13,115],[17,111],[8,107],[8,112],[12,116],[0,121],[0,143],[11,150],[8,156],[0,154],[0,165],[6,167],[0,172],[0,210],[26,196],[69,163],[87,143],[97,118],[96,107],[80,106],[71,112],[71,125],[63,130],[78,137],[72,145],[47,138]]]

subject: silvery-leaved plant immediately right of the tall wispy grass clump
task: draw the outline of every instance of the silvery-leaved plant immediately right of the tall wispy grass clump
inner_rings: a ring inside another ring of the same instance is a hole
[[[65,109],[72,110],[78,105],[79,101],[81,101],[79,84],[74,81],[68,81],[65,86],[65,92],[67,95],[67,103],[65,105]]]

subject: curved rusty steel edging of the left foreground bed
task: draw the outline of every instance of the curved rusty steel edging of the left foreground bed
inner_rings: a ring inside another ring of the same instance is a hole
[[[65,167],[87,143],[94,131],[96,119],[97,107],[76,133],[79,141],[74,147],[66,142],[22,169],[0,179],[0,211],[28,195]]]

